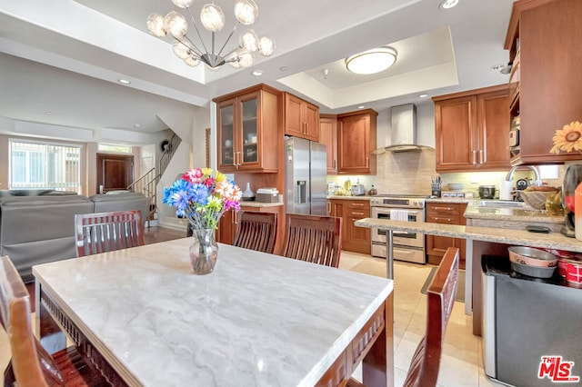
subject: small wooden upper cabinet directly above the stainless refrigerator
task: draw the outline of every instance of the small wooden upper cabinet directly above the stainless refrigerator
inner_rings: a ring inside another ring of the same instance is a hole
[[[285,94],[285,134],[319,142],[319,106]]]

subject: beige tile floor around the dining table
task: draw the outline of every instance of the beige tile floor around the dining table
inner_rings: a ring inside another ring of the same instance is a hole
[[[426,296],[420,293],[430,265],[396,262],[394,265],[394,353],[395,385],[401,386],[416,345],[425,333]],[[340,268],[386,277],[386,260],[369,255],[342,252]],[[33,318],[34,319],[34,318]],[[34,320],[33,320],[34,321]],[[447,326],[438,385],[442,387],[497,386],[483,372],[481,341],[473,335],[472,320],[464,304],[456,303]],[[0,329],[0,370],[10,360],[10,346]],[[355,374],[358,377],[358,372]],[[0,382],[2,372],[0,372]]]

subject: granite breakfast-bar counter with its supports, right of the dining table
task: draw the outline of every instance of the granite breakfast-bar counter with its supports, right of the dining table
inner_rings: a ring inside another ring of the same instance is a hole
[[[582,243],[561,233],[529,233],[526,230],[440,223],[409,223],[386,219],[365,218],[356,226],[387,231],[388,240],[393,232],[424,233],[467,240],[467,266],[465,283],[465,312],[473,313],[473,333],[481,334],[481,256],[484,254],[507,256],[507,247],[523,245],[582,253]],[[390,252],[391,249],[386,249]],[[386,272],[391,277],[393,262],[387,254]]]

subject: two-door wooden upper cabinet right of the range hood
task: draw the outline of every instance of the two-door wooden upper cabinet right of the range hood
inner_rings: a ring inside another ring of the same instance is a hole
[[[433,100],[437,172],[509,169],[507,84]]]

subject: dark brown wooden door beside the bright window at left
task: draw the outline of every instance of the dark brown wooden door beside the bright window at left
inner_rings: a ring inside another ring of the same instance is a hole
[[[125,190],[134,183],[134,156],[125,154],[97,154],[97,193],[103,185],[107,191]]]

